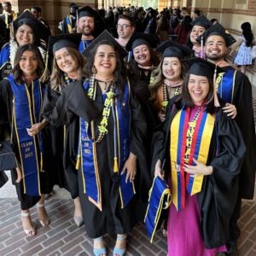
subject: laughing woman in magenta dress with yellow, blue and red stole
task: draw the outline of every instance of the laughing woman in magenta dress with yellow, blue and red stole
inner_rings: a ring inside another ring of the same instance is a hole
[[[173,256],[215,256],[226,252],[230,236],[246,148],[236,122],[219,108],[214,68],[200,62],[189,68],[181,96],[168,103],[154,134],[152,169],[172,191],[167,242]]]

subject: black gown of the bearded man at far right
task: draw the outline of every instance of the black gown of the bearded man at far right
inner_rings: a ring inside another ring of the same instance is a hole
[[[233,67],[222,67],[224,71]],[[253,199],[256,172],[256,136],[253,119],[252,85],[247,76],[236,72],[233,102],[236,106],[236,122],[241,129],[244,143],[247,147],[244,163],[239,176],[239,195],[244,199]]]

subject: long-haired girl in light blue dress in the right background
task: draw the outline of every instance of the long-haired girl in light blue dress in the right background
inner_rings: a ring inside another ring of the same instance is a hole
[[[241,24],[241,36],[237,40],[233,49],[230,52],[232,55],[233,51],[239,47],[234,63],[236,66],[240,66],[241,73],[246,73],[247,65],[252,65],[253,59],[251,49],[253,46],[254,36],[249,22]]]

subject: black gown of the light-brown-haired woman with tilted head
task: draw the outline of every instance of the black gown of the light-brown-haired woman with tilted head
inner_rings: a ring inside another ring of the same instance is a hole
[[[57,90],[52,90],[49,86],[46,87],[44,93],[44,102],[42,113],[47,114],[55,108],[55,103],[58,100],[61,93]],[[41,114],[42,114],[41,113]],[[67,180],[64,174],[63,167],[63,147],[64,147],[64,134],[65,127],[61,126],[56,128],[54,125],[47,125],[44,128],[44,134],[48,138],[44,140],[44,151],[49,159],[49,170],[51,171],[51,183],[53,185],[57,184],[60,188],[67,189]],[[78,196],[78,189],[76,189],[72,196]]]

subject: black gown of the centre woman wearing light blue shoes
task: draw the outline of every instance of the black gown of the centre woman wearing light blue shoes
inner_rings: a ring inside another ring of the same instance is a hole
[[[71,90],[71,87],[76,87]],[[75,101],[73,99],[76,99]],[[150,185],[150,177],[143,154],[143,142],[146,140],[146,124],[141,111],[140,104],[131,96],[131,143],[130,150],[137,155],[138,165],[137,178],[135,185],[137,195],[124,208],[120,209],[119,202],[119,178],[113,174],[113,119],[112,113],[108,118],[108,134],[97,143],[96,152],[98,157],[98,169],[102,186],[102,212],[84,195],[81,170],[79,170],[79,197],[81,201],[83,218],[86,232],[90,237],[102,236],[106,233],[127,233],[131,230],[139,218],[144,216],[140,209],[141,201],[138,198],[146,200]],[[74,116],[81,116],[90,122],[95,120],[95,127],[102,120],[102,93],[97,87],[96,101],[92,101],[85,94],[83,83],[78,81],[70,84],[66,90],[63,90],[56,108],[54,109],[49,122],[61,125],[69,122]],[[143,166],[142,162],[145,165]],[[142,167],[143,166],[143,167]],[[144,169],[145,168],[145,169]],[[140,203],[138,203],[138,201]]]

